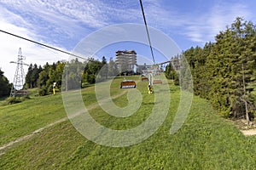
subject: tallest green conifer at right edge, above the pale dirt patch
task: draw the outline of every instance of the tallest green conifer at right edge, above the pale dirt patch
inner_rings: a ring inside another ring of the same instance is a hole
[[[246,116],[247,85],[251,82],[255,62],[255,29],[252,23],[237,18],[221,31],[207,60],[210,100],[223,116]]]

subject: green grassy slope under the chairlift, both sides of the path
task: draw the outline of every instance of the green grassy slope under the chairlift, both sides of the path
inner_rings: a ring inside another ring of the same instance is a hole
[[[119,81],[113,82],[113,96],[124,92],[124,89],[118,89]],[[137,126],[148,117],[154,105],[154,95],[147,94],[146,84],[137,83],[143,94],[143,105],[134,115],[117,118],[108,116],[101,108],[90,110],[90,114],[106,127],[126,129]],[[183,127],[171,135],[170,127],[179,104],[179,88],[170,85],[170,91],[172,98],[166,121],[142,143],[123,148],[95,144],[66,121],[6,150],[0,156],[0,169],[255,168],[256,137],[244,137],[231,122],[217,116],[205,99],[194,98]],[[93,87],[84,88],[82,94],[86,105],[96,105]],[[127,103],[125,94],[113,100],[119,106]],[[60,94],[1,106],[0,145],[65,116]]]

